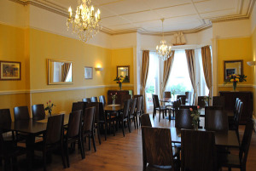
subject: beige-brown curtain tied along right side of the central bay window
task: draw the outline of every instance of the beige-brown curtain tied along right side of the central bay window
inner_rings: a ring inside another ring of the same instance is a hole
[[[197,105],[197,88],[196,88],[196,79],[195,79],[195,49],[186,49],[186,57],[189,69],[189,77],[191,80],[192,87],[194,89],[194,105]]]

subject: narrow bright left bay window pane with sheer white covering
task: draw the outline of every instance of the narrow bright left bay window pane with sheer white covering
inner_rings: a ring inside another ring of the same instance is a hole
[[[160,92],[159,58],[155,52],[149,52],[148,80],[146,84],[146,107],[147,112],[153,111],[152,94]]]

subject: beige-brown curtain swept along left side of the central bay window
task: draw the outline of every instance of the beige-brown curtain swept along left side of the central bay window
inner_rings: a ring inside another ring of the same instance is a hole
[[[171,74],[171,71],[172,71],[172,65],[173,65],[173,61],[174,61],[174,54],[175,54],[175,51],[172,50],[172,54],[171,54],[170,58],[168,58],[164,62],[164,75],[163,75],[163,83],[162,83],[162,93],[160,94],[160,97],[163,97],[163,94],[166,90],[166,84],[167,84],[168,78],[170,77],[170,74]]]

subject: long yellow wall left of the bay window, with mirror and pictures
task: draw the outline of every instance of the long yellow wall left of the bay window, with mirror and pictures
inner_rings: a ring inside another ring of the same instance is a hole
[[[47,59],[73,61],[73,84],[48,85]],[[113,82],[116,66],[130,66],[129,84],[134,83],[132,48],[101,48],[32,28],[0,25],[0,60],[21,62],[20,81],[0,81],[0,108],[9,108],[12,115],[15,106],[45,105],[48,100],[56,105],[53,112],[69,113],[74,101],[84,97],[107,95],[108,89],[117,89],[114,86],[104,87],[112,84],[117,86]],[[93,67],[93,79],[84,79],[84,66]],[[102,66],[103,71],[95,71],[96,66]],[[92,88],[82,88],[86,86]],[[58,88],[73,89],[56,91]],[[1,91],[13,90],[26,90],[27,93],[1,94]]]

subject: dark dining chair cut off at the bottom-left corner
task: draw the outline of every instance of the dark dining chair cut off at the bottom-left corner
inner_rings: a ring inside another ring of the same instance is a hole
[[[17,170],[17,157],[24,154],[26,154],[25,148],[3,140],[3,130],[0,128],[0,158],[3,159],[3,171]],[[15,167],[12,165],[15,165]]]

